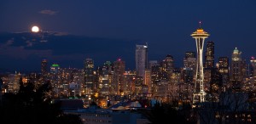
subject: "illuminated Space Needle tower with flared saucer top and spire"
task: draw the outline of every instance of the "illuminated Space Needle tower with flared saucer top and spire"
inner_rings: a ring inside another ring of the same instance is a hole
[[[204,48],[204,42],[209,34],[200,27],[191,34],[191,37],[195,38],[196,51],[197,51],[197,61],[196,61],[196,74],[195,74],[195,89],[193,94],[193,103],[204,102],[205,92],[204,92],[204,68],[202,62],[202,52]]]

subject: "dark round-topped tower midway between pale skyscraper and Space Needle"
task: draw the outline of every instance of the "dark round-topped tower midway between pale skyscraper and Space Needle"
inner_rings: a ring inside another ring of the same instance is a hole
[[[174,69],[173,57],[170,54],[166,55],[166,58],[161,62],[162,71],[166,73],[166,80],[170,80],[172,76],[172,70]]]

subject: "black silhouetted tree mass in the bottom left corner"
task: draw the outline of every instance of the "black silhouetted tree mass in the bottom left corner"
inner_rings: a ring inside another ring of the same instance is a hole
[[[24,84],[20,79],[18,93],[5,93],[3,104],[0,106],[1,123],[66,123],[80,124],[78,116],[65,115],[60,109],[60,104],[53,104],[46,95],[50,91],[49,82],[35,89],[32,82]],[[68,118],[68,119],[67,119]]]

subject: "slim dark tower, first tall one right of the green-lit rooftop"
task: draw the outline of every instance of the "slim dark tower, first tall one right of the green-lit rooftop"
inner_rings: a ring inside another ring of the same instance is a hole
[[[87,58],[84,60],[84,87],[85,94],[92,94],[94,90],[94,62]]]

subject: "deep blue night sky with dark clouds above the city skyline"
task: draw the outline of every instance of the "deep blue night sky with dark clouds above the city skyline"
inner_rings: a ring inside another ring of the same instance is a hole
[[[181,67],[184,53],[195,51],[190,34],[200,20],[207,41],[215,42],[216,61],[236,47],[243,59],[256,56],[255,0],[6,0],[0,2],[0,69],[40,70],[44,58],[82,68],[87,57],[96,65],[122,58],[134,69],[135,45],[144,42],[148,59],[172,54]],[[43,40],[17,34],[32,25],[57,33]]]

